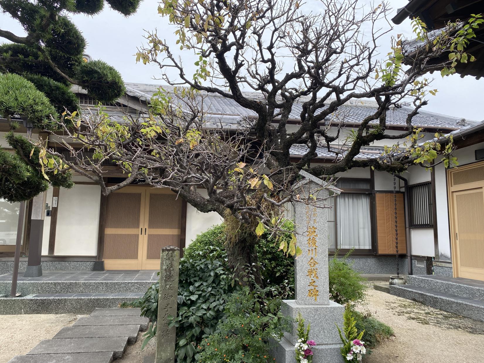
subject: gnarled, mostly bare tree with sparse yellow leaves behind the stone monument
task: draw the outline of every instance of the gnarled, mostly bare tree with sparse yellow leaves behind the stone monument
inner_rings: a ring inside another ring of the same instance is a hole
[[[358,3],[321,0],[320,13],[308,13],[307,5],[296,0],[161,1],[158,12],[175,28],[176,46],[199,57],[196,72],[188,76],[181,58],[156,32],[148,32],[148,46],[139,49],[137,59],[158,64],[161,79],[186,88],[170,94],[160,90],[151,98],[150,113],[140,119],[116,122],[102,113],[68,116],[61,125],[66,137],[94,149],[95,159],[85,160],[71,148],[76,162],[68,162],[41,148],[45,168],[73,169],[98,182],[104,194],[141,179],[171,188],[202,212],[234,217],[243,232],[228,250],[235,266],[256,261],[254,246],[261,230],[277,234],[283,204],[298,200],[291,185],[300,170],[331,177],[353,167],[400,172],[414,164],[452,162],[452,143],[441,149],[434,140],[417,147],[420,130],[412,120],[427,104],[427,95],[436,92],[423,75],[442,68],[452,73],[454,62],[468,58],[466,42],[480,17],[469,23],[465,34],[462,23],[429,34],[415,20],[421,46],[405,66],[399,35],[392,38],[385,60],[378,53],[379,39],[391,31],[390,25],[380,27],[389,24],[384,22],[388,4],[365,9]],[[449,61],[429,65],[445,54]],[[175,70],[176,76],[166,70]],[[248,96],[247,89],[259,97]],[[256,117],[245,118],[232,134],[207,129],[206,94],[227,97]],[[325,121],[334,121],[340,107],[352,99],[373,99],[378,106],[348,134],[332,164],[311,165],[318,146],[333,150],[331,143],[343,135],[344,120],[331,125]],[[406,130],[386,133],[387,116],[404,105],[411,106]],[[295,112],[297,127],[289,130]],[[70,122],[74,129],[67,126]],[[330,132],[330,126],[336,132]],[[355,158],[374,141],[405,138],[407,145],[391,141],[396,143],[384,155]],[[294,145],[306,147],[299,161],[290,158]],[[101,165],[105,160],[117,162],[128,178],[106,186]],[[288,247],[283,241],[281,247],[297,254],[294,244]]]

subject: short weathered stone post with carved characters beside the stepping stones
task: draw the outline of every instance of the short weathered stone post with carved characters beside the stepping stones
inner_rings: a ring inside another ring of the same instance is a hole
[[[180,250],[177,247],[161,249],[155,363],[175,362],[176,328],[168,328],[167,318],[169,315],[177,316],[179,262]]]

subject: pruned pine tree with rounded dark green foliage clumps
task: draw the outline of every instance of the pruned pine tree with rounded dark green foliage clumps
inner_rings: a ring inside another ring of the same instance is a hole
[[[136,12],[140,0],[106,0],[125,16]],[[125,91],[120,73],[104,61],[85,61],[86,40],[69,14],[96,15],[104,0],[0,0],[0,10],[16,19],[25,31],[15,34],[0,25],[0,118],[11,132],[7,142],[15,154],[0,149],[0,198],[29,200],[49,183],[71,187],[69,173],[43,176],[47,159],[15,129],[25,122],[55,131],[62,113],[77,112],[78,100],[71,85],[83,87],[100,102],[113,102]],[[30,155],[31,154],[31,155]]]

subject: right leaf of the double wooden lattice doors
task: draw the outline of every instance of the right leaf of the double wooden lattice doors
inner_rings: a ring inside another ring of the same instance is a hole
[[[165,246],[180,246],[181,198],[165,189],[148,189],[146,201],[147,233],[143,242],[143,270],[160,268],[160,251]]]

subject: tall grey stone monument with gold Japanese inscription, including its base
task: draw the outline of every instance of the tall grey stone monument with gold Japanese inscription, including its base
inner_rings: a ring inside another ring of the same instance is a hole
[[[304,177],[295,185],[300,190],[302,199],[316,197],[324,200],[329,196],[329,189],[339,194],[340,190],[304,171]],[[277,363],[295,363],[295,348],[298,337],[297,323],[294,319],[301,313],[305,325],[311,324],[309,338],[317,343],[313,348],[313,363],[343,363],[341,340],[336,324],[343,328],[345,307],[329,299],[328,274],[328,214],[327,209],[314,204],[295,203],[295,222],[298,246],[302,255],[295,260],[296,300],[285,300],[282,312],[293,319],[289,332],[272,350]]]

